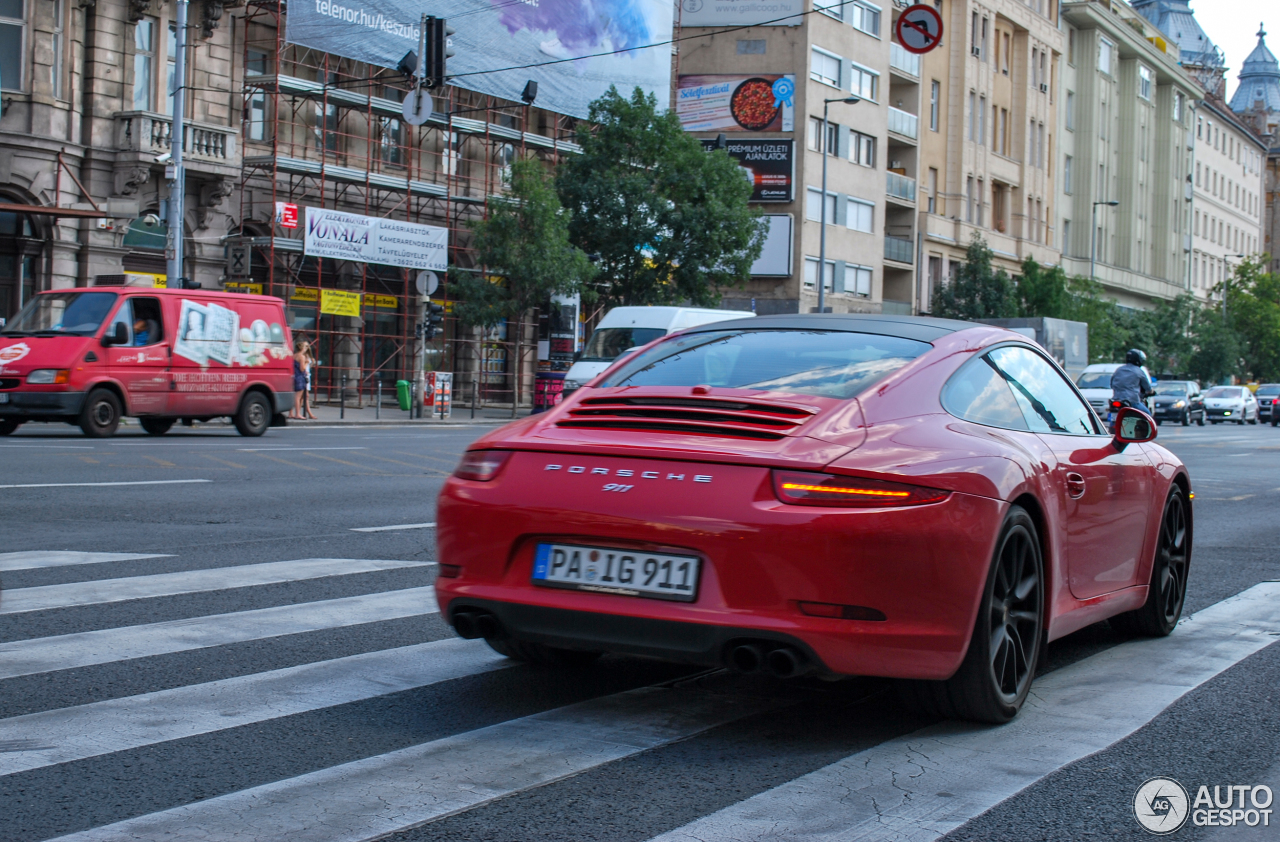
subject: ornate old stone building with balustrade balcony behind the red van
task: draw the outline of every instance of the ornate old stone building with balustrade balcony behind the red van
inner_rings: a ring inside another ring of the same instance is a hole
[[[174,5],[9,0],[0,12],[0,319],[35,292],[164,276]],[[215,285],[241,174],[223,5],[191,12],[183,138],[188,274]],[[163,220],[163,214],[159,214]],[[148,224],[150,223],[150,224]]]

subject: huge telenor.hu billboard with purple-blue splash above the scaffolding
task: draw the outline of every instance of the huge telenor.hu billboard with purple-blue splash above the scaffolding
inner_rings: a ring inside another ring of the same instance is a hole
[[[417,52],[425,9],[408,0],[298,0],[284,37],[396,68]],[[580,118],[611,84],[623,96],[639,86],[658,97],[659,110],[668,105],[669,0],[435,0],[430,13],[456,29],[452,84],[518,101],[534,79],[540,107]]]

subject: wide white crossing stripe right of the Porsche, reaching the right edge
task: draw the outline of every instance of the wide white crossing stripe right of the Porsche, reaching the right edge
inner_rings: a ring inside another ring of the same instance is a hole
[[[1128,737],[1184,694],[1274,644],[1277,630],[1280,584],[1254,585],[1198,612],[1167,639],[1123,644],[1044,676],[1007,726],[924,728],[654,842],[929,842]]]

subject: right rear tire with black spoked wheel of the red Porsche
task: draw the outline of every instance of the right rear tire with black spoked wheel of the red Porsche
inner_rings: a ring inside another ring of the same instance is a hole
[[[1043,646],[1044,563],[1036,523],[1019,505],[1000,527],[980,605],[956,674],[900,681],[904,703],[929,715],[992,724],[1009,722],[1021,709]]]

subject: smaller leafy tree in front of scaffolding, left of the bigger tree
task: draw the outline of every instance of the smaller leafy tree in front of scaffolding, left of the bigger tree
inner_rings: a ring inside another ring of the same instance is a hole
[[[492,328],[503,319],[516,321],[511,409],[515,417],[520,404],[520,326],[526,314],[545,305],[552,296],[585,292],[590,297],[586,285],[595,267],[570,243],[571,214],[561,206],[541,163],[536,159],[515,161],[509,186],[508,201],[498,203],[488,219],[471,225],[476,258],[489,267],[489,273],[457,271],[453,278],[458,297],[454,311],[463,325]]]

